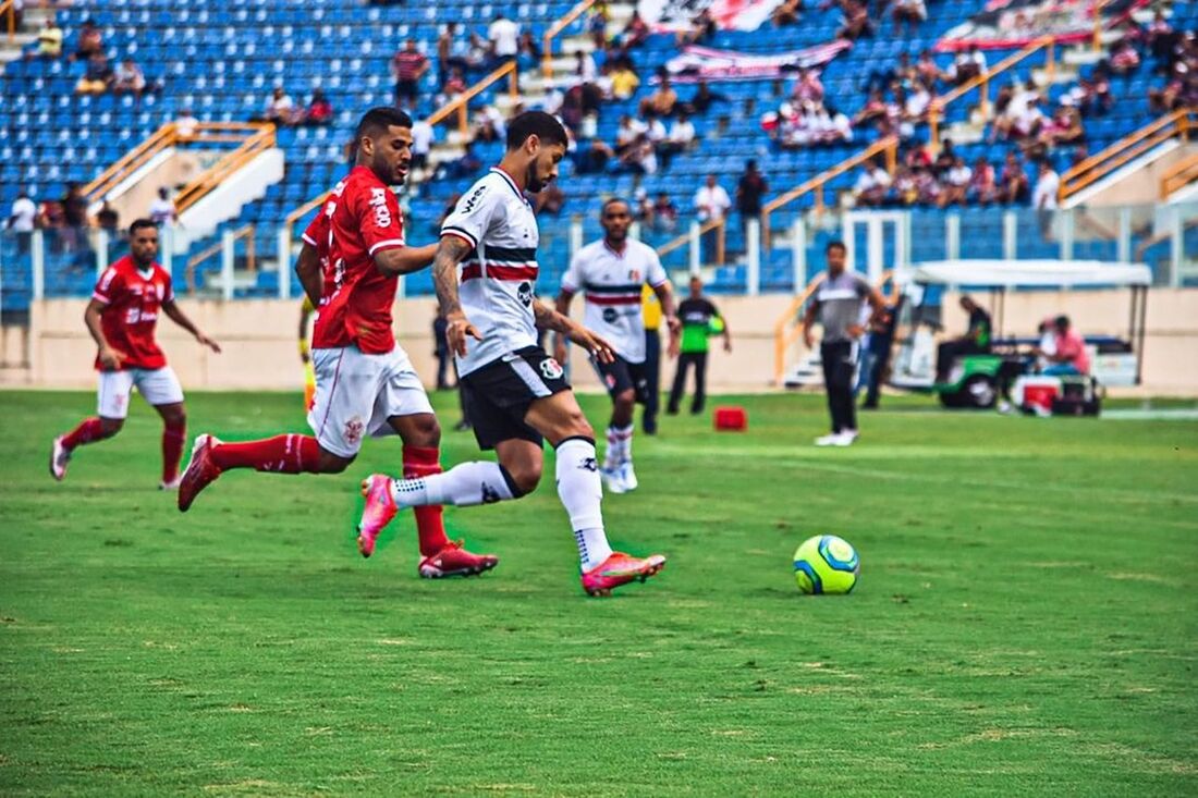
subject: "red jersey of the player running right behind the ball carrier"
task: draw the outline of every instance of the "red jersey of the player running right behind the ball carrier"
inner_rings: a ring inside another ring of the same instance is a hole
[[[395,194],[365,167],[355,167],[338,183],[308,230],[328,214],[328,266],[313,330],[313,349],[356,345],[367,355],[395,347],[391,306],[398,277],[385,277],[374,256],[404,246],[404,219]],[[320,229],[313,240],[321,249]],[[304,234],[307,237],[307,232]]]

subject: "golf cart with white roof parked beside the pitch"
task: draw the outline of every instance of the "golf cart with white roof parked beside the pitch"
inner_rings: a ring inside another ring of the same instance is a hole
[[[1055,398],[1070,412],[1096,413],[1095,387],[1138,385],[1144,347],[1144,320],[1151,272],[1139,264],[1100,261],[1004,261],[951,260],[913,266],[895,273],[906,302],[900,308],[895,332],[890,385],[909,391],[934,392],[945,407],[992,407],[1005,380],[1037,387],[1028,371],[1028,351],[1034,338],[1004,338],[1003,312],[1008,291],[1024,289],[1131,288],[1131,321],[1127,339],[1087,335],[1091,374],[1079,377],[1043,379],[1054,382]],[[936,332],[942,330],[940,298],[946,289],[987,290],[994,339],[986,353],[954,358],[944,382],[936,380]],[[1049,401],[1053,397],[1049,397]],[[1024,404],[1021,398],[1017,404]],[[1075,410],[1076,407],[1076,410]]]

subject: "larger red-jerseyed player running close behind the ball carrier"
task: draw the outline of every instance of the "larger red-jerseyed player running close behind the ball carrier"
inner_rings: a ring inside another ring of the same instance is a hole
[[[365,435],[398,434],[405,474],[441,472],[441,427],[392,333],[399,276],[426,268],[436,253],[436,244],[406,246],[399,204],[389,188],[407,175],[411,127],[407,114],[393,108],[375,108],[362,117],[355,134],[356,165],[303,236],[296,272],[319,308],[311,341],[316,397],[308,413],[315,436],[279,435],[242,443],[198,436],[180,485],[179,509],[186,512],[201,490],[231,468],[340,473],[357,457]],[[450,542],[440,506],[422,509],[416,515],[420,576],[466,576],[498,564],[494,556],[474,555]],[[358,538],[363,557],[374,548],[374,537]]]

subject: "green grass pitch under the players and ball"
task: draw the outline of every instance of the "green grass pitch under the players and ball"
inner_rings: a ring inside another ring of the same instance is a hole
[[[748,434],[637,439],[610,536],[670,564],[595,600],[551,476],[448,510],[502,563],[429,582],[410,518],[352,542],[398,441],[180,515],[138,400],[56,484],[93,398],[0,393],[0,794],[1198,794],[1198,424],[915,398],[827,451],[818,397],[740,400]],[[196,394],[190,433],[302,430],[298,405]],[[795,590],[824,532],[860,551],[849,597]]]

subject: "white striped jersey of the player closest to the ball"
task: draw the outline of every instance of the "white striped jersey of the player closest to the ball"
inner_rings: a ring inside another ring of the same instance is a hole
[[[472,250],[461,262],[458,298],[483,340],[466,340],[458,374],[537,345],[532,303],[537,294],[537,217],[515,181],[491,169],[458,200],[441,225]]]

